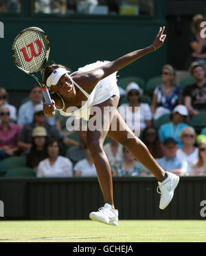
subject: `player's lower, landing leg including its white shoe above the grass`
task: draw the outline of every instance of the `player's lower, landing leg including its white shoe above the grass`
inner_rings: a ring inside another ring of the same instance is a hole
[[[91,114],[87,130],[87,146],[91,152],[104,196],[104,206],[101,207],[99,211],[90,213],[89,217],[91,220],[114,226],[118,225],[118,211],[115,210],[113,202],[111,167],[106,153],[104,152],[103,144],[112,120],[112,117],[106,116],[105,107],[114,107],[115,109],[117,103],[118,98],[112,97],[106,102],[96,105],[95,107],[98,107],[98,113],[95,112],[95,114]],[[93,109],[91,109],[91,111],[93,111]],[[94,124],[93,118],[98,118]],[[96,128],[93,129],[94,127],[91,127],[92,125],[95,125]]]

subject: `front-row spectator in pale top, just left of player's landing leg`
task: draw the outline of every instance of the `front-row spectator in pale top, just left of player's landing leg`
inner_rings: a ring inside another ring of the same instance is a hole
[[[84,152],[87,158],[80,160],[73,167],[75,177],[93,177],[97,176],[97,171],[95,169],[95,165],[93,163],[93,158],[91,157],[91,153],[89,149],[87,149],[87,145],[84,147]]]

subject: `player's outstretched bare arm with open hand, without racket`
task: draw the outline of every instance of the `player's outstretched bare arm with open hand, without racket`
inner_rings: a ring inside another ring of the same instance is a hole
[[[98,68],[97,70],[93,70],[94,74],[98,76],[99,80],[102,80],[106,76],[109,76],[118,70],[122,70],[122,68],[133,63],[134,61],[137,61],[137,59],[145,56],[146,54],[159,49],[163,45],[166,38],[166,34],[163,34],[164,30],[165,27],[159,28],[159,32],[157,33],[157,36],[155,37],[152,45],[135,52],[130,52],[129,54],[126,54],[117,60]]]

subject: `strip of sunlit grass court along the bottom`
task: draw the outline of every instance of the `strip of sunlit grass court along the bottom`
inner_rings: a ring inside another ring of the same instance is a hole
[[[205,220],[0,222],[0,242],[206,242]]]

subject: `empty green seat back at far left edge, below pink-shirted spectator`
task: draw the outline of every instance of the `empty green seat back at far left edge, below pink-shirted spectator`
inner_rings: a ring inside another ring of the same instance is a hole
[[[14,156],[11,158],[5,158],[0,163],[0,176],[5,175],[10,169],[18,168],[18,167],[25,167],[26,166],[26,159],[25,157],[21,156]]]

